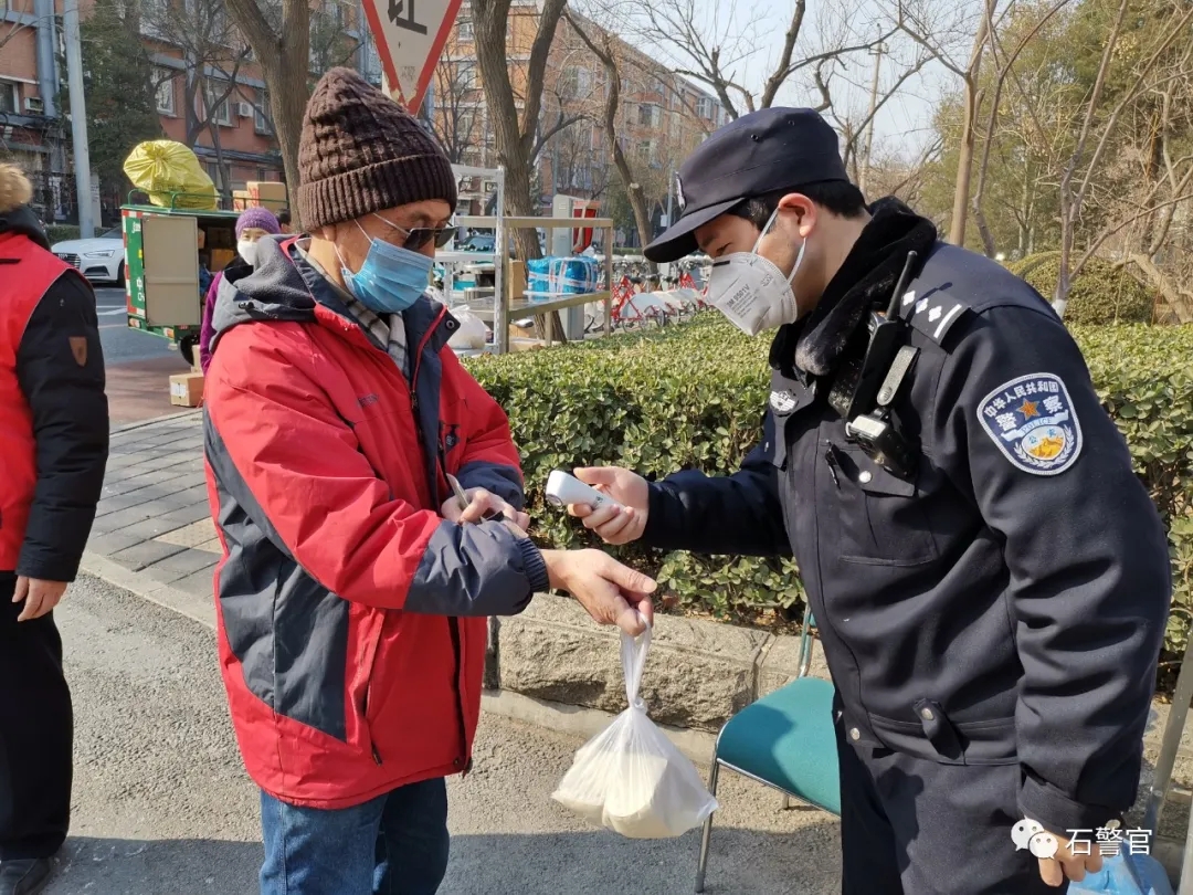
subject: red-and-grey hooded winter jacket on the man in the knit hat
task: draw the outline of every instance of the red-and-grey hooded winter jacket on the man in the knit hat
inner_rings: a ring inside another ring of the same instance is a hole
[[[204,391],[221,663],[253,779],[344,808],[468,769],[486,616],[521,611],[546,570],[500,523],[439,516],[445,471],[523,504],[447,311],[400,317],[408,378],[293,242],[260,245],[221,286]]]

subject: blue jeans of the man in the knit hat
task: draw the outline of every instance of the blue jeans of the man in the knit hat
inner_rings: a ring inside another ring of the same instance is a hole
[[[261,895],[434,895],[447,870],[447,786],[413,783],[353,808],[261,792]]]

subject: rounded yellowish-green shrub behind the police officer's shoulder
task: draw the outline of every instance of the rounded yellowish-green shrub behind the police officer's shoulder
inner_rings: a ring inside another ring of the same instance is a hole
[[[1061,278],[1061,253],[1040,252],[1009,266],[1049,301]],[[1150,323],[1151,290],[1123,267],[1102,258],[1090,258],[1073,279],[1064,319],[1069,323]]]

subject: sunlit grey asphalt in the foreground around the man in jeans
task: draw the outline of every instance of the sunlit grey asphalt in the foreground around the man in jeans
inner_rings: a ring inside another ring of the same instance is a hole
[[[256,791],[228,721],[214,634],[86,576],[57,617],[76,717],[74,826],[47,891],[256,891]],[[550,800],[580,745],[482,717],[475,770],[449,786],[453,841],[440,895],[692,891],[698,832],[626,840]],[[719,795],[710,895],[840,890],[828,815],[784,811],[774,792],[731,773]]]

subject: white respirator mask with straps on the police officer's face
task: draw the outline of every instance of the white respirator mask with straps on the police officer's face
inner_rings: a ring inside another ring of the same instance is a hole
[[[785,323],[795,323],[799,316],[796,294],[791,280],[804,261],[808,240],[799,245],[799,254],[784,277],[773,261],[758,254],[762,236],[774,223],[775,209],[750,252],[734,252],[712,263],[709,277],[709,303],[724,314],[729,322],[747,335],[758,335],[766,329],[775,329]]]

